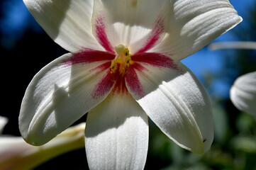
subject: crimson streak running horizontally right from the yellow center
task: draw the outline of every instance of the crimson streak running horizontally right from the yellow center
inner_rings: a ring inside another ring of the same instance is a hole
[[[132,60],[134,62],[144,62],[155,67],[178,69],[177,65],[170,57],[167,57],[166,55],[162,55],[161,53],[157,52],[143,52],[140,54],[136,54],[132,56]]]

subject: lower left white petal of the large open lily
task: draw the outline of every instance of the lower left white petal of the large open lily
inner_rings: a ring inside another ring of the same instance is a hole
[[[111,62],[104,70],[106,61],[86,63],[86,55],[63,55],[30,82],[19,116],[26,142],[43,145],[108,96],[113,85],[108,81]],[[104,56],[104,52],[99,55]]]

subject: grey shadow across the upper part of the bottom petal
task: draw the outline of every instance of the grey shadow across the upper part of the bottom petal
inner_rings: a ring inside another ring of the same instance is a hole
[[[148,124],[148,118],[138,103],[128,94],[124,96],[109,95],[96,106],[87,117],[86,137],[94,137],[111,129],[121,128],[126,121],[141,118]]]

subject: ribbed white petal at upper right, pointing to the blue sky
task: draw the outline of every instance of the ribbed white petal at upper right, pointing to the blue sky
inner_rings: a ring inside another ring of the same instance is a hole
[[[169,30],[151,51],[171,55],[174,60],[197,52],[242,21],[228,0],[176,0],[171,3]]]

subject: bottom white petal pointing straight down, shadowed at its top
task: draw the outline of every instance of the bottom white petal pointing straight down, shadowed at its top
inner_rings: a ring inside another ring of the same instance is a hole
[[[87,117],[90,169],[143,169],[148,152],[148,116],[130,96],[108,96]]]

